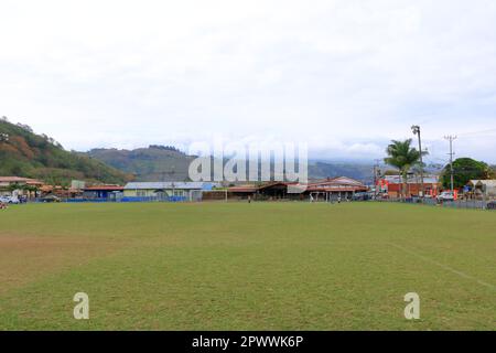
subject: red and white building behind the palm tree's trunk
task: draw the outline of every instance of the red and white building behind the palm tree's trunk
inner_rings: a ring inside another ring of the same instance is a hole
[[[377,186],[381,193],[388,194],[391,199],[401,197],[403,188],[403,179],[401,175],[386,175],[377,182]],[[427,196],[435,197],[442,190],[442,185],[438,175],[424,175],[423,189]],[[419,175],[408,174],[407,178],[407,196],[421,195],[422,183]]]

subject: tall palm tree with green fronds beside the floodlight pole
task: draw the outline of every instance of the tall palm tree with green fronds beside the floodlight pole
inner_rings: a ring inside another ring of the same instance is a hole
[[[385,163],[396,167],[402,178],[402,197],[407,195],[408,172],[420,162],[420,152],[411,147],[411,139],[405,141],[392,140],[386,149],[388,157],[384,159]],[[422,156],[428,152],[422,152]]]

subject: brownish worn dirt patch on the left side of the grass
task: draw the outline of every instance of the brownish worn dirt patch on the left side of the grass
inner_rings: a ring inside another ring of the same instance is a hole
[[[0,295],[120,248],[109,239],[0,235]]]

